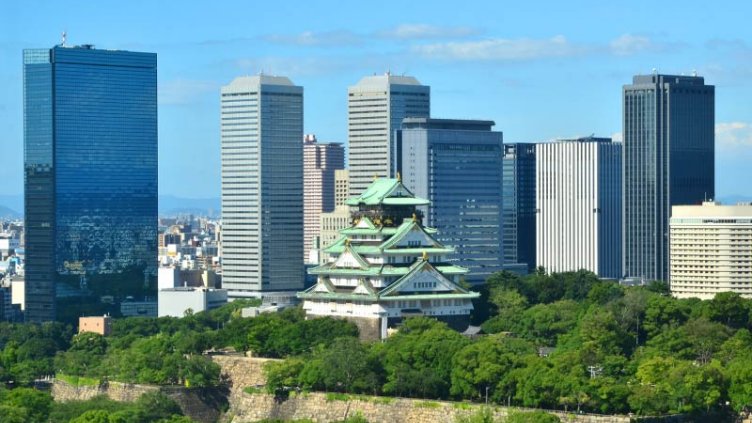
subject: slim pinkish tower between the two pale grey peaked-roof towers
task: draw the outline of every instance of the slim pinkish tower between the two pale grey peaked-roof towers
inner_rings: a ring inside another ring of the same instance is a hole
[[[303,253],[304,259],[319,235],[322,212],[334,210],[335,175],[345,167],[345,148],[340,143],[319,144],[315,135],[303,140]]]

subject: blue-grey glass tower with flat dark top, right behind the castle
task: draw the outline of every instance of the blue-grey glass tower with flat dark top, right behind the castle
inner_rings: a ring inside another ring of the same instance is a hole
[[[397,132],[405,186],[428,199],[421,207],[436,239],[455,249],[453,264],[483,283],[502,269],[503,135],[492,121],[407,118]]]

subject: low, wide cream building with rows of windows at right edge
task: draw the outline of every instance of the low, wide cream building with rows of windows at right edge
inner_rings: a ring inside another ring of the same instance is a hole
[[[670,233],[673,296],[752,298],[752,204],[674,206]]]

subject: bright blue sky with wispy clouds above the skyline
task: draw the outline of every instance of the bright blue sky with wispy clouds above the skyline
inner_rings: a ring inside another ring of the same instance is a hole
[[[305,87],[305,131],[346,142],[347,86],[406,73],[434,117],[492,119],[506,142],[620,136],[621,86],[693,70],[716,85],[717,196],[752,197],[746,1],[4,1],[0,194],[23,192],[21,50],[158,53],[159,191],[219,196],[219,88],[260,71]]]

